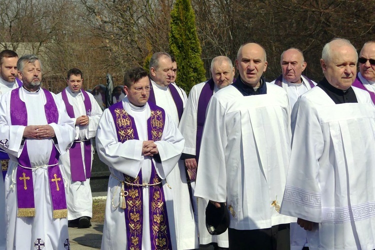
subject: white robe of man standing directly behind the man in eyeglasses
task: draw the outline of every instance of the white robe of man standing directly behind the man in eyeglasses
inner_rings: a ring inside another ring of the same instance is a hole
[[[176,126],[178,126],[179,119],[177,108],[170,91],[167,87],[159,86],[152,80],[151,83],[155,93],[156,105],[163,108],[165,112],[170,115]],[[181,97],[183,106],[185,106],[187,100],[185,91],[175,84],[173,86]],[[196,249],[199,245],[197,229],[187,187],[185,164],[182,160],[178,161],[178,166],[168,175],[166,181],[171,186],[174,196],[174,220],[176,221],[178,250]]]

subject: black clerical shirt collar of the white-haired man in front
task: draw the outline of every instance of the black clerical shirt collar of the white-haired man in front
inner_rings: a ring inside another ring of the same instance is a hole
[[[316,86],[321,88],[335,104],[358,102],[354,90],[351,87],[345,91],[335,88],[328,83],[325,77]]]

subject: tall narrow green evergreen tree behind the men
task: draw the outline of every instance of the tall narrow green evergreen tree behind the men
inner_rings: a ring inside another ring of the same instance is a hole
[[[188,94],[193,85],[206,80],[191,1],[176,0],[170,17],[169,50],[177,62],[177,84]]]

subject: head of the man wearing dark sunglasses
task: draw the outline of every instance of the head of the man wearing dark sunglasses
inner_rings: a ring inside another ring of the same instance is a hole
[[[367,81],[375,81],[375,41],[364,43],[359,53],[358,62],[359,72],[363,78]]]

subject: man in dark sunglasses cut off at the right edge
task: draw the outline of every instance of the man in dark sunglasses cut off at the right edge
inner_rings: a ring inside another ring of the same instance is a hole
[[[364,43],[358,58],[359,73],[352,86],[366,90],[375,103],[375,41]]]

